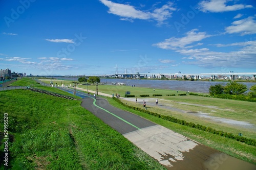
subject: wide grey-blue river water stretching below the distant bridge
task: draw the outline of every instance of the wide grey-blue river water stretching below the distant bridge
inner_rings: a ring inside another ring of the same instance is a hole
[[[77,81],[78,78],[63,78],[56,77],[56,79],[65,79],[65,80],[73,80]],[[148,87],[148,88],[161,88],[161,89],[171,89],[171,90],[189,90],[190,92],[209,92],[209,87],[211,85],[223,84],[225,85],[227,82],[217,82],[217,81],[178,81],[178,80],[140,80],[140,79],[100,79],[101,83],[112,84],[112,82],[121,82],[125,83],[129,86],[137,86],[137,87]],[[248,88],[256,83],[252,82],[241,82],[245,84]],[[247,91],[247,92],[248,92]]]

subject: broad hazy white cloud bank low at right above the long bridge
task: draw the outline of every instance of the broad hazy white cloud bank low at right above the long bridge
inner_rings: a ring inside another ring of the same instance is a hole
[[[195,64],[202,67],[241,67],[241,68],[255,68],[255,55],[256,55],[256,41],[238,42],[232,44],[222,44],[219,46],[242,46],[237,51],[228,53],[209,51],[208,48],[201,49],[182,49],[176,51],[188,57],[183,59],[194,58],[193,61],[188,61],[188,64]]]

